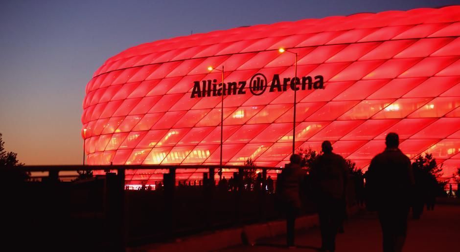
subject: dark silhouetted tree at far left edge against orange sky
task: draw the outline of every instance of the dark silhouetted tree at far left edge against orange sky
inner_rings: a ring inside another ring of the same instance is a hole
[[[23,166],[24,164],[19,162],[17,153],[12,151],[6,151],[4,148],[5,142],[3,142],[2,135],[0,133],[0,168],[1,177],[3,180],[9,182],[25,181],[29,178],[29,173],[20,170],[11,170],[10,168]],[[5,168],[8,168],[5,169]]]

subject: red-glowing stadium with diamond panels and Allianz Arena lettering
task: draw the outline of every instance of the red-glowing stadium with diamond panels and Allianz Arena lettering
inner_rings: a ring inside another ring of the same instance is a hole
[[[318,150],[329,140],[334,152],[367,169],[386,134],[397,132],[405,154],[433,153],[450,177],[460,167],[459,21],[460,6],[360,13],[129,48],[86,86],[87,163],[218,165],[224,66],[225,165],[287,163],[298,81],[297,149]],[[176,176],[200,179],[200,171],[178,169]],[[161,173],[134,170],[126,183]]]

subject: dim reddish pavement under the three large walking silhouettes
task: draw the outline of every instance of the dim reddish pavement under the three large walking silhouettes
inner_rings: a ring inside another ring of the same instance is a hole
[[[380,252],[382,232],[375,213],[364,212],[345,223],[345,233],[338,234],[336,252]],[[225,252],[276,252],[288,250],[285,236],[262,239],[253,246],[238,245]],[[296,249],[290,251],[317,251],[321,247],[318,228],[296,233]],[[460,205],[437,205],[434,211],[424,210],[419,220],[409,218],[404,252],[460,251]]]

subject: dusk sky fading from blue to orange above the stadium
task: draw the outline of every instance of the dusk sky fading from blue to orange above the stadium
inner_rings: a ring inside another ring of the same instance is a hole
[[[85,86],[140,43],[460,0],[0,0],[0,133],[26,165],[81,164]]]

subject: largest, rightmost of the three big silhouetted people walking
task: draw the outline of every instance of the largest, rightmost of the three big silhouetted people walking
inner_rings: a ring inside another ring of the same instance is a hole
[[[411,161],[398,148],[399,136],[389,133],[385,151],[369,166],[366,187],[378,212],[383,233],[383,251],[402,251],[407,232],[414,174]]]

